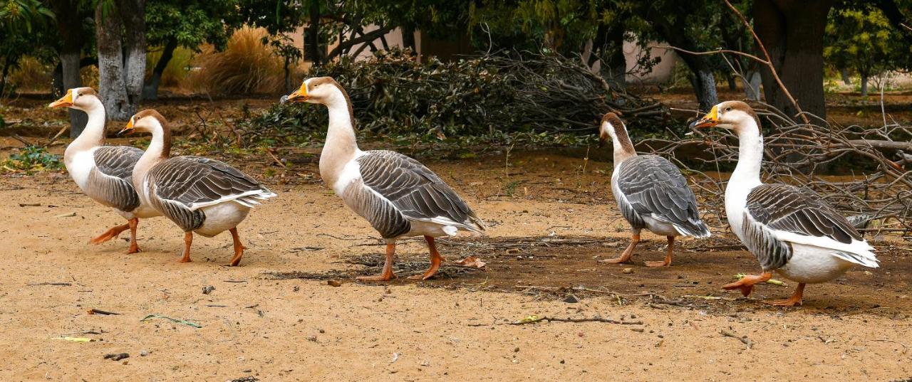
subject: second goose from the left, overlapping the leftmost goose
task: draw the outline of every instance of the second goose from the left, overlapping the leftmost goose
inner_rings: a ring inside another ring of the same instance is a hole
[[[120,134],[150,133],[149,148],[133,168],[133,186],[141,203],[155,208],[184,231],[181,263],[189,263],[193,233],[212,237],[230,231],[238,266],[244,247],[237,225],[250,209],[275,196],[272,191],[232,166],[201,156],[171,157],[171,129],[155,110],[130,117]]]

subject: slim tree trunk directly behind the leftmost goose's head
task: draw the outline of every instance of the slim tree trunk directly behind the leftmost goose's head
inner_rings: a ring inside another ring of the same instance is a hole
[[[57,32],[63,43],[58,52],[60,55],[60,83],[53,86],[62,90],[58,95],[63,95],[62,93],[66,92],[66,89],[82,86],[82,77],[79,75],[79,55],[82,52],[82,45],[86,42],[86,35],[82,31],[82,20],[85,15],[80,14],[78,3],[76,0],[51,2],[54,14],[57,15]],[[87,122],[86,113],[69,109],[69,136],[73,138],[79,136],[86,128]]]

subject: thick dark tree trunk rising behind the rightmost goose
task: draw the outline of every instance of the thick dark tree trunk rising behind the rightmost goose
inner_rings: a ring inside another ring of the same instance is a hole
[[[805,112],[826,117],[824,102],[824,27],[832,0],[756,0],[754,29],[772,65]],[[766,102],[789,116],[797,114],[769,69],[762,69]]]

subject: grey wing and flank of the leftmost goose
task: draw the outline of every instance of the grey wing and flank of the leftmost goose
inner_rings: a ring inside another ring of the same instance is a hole
[[[130,212],[140,206],[133,188],[133,167],[142,150],[130,146],[101,146],[93,153],[95,168],[88,175],[88,192],[107,206]]]

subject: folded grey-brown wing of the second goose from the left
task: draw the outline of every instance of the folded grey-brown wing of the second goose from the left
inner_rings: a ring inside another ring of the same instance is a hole
[[[253,206],[257,199],[275,196],[238,169],[200,156],[172,157],[152,167],[149,176],[157,196],[191,209],[225,200]]]

